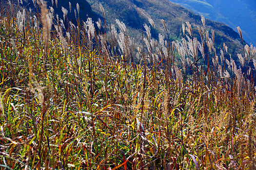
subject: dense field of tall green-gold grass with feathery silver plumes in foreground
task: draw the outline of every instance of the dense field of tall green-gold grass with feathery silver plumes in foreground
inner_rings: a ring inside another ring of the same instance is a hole
[[[1,168],[256,168],[256,48],[241,43],[239,66],[226,44],[217,56],[204,17],[180,42],[150,19],[139,48],[119,20],[102,34],[35,5],[0,9]]]

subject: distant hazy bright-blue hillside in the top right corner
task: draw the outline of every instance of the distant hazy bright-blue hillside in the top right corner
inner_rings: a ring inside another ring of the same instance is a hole
[[[240,26],[244,39],[256,44],[255,0],[170,0],[211,20],[223,22],[236,30]]]

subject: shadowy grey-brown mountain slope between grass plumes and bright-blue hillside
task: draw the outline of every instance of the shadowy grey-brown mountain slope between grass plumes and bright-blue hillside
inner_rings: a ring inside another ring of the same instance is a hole
[[[156,34],[153,34],[155,37],[158,37],[157,33],[165,33],[161,24],[161,19],[164,19],[171,40],[182,37],[181,25],[186,21],[189,21],[195,28],[194,33],[197,32],[197,26],[202,26],[199,15],[170,0],[88,0],[88,2],[98,15],[101,15],[99,4],[102,4],[106,20],[115,22],[117,18],[123,21],[128,26],[130,34],[137,39],[141,39],[141,24],[149,24],[148,18],[155,21]],[[217,51],[222,47],[223,42],[228,44],[229,52],[233,54],[241,50],[240,37],[230,27],[209,19],[206,19],[206,26],[209,30],[215,30]]]

